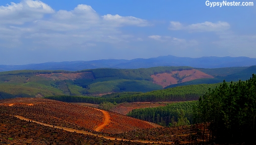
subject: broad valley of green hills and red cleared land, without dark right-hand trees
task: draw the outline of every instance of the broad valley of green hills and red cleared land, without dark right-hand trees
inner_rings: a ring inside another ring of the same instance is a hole
[[[223,89],[223,85],[248,83],[241,79],[246,80],[252,72],[256,72],[255,66],[0,72],[0,142],[32,145],[205,143],[211,136],[205,133],[208,123],[202,125],[202,121],[195,120],[196,109],[204,113],[199,108],[202,97],[214,89]],[[16,123],[8,124],[12,120]],[[15,126],[18,120],[24,125]],[[13,134],[15,130],[6,125],[21,133]],[[41,133],[46,130],[54,133],[36,134],[39,137],[33,138],[27,126]],[[79,142],[69,141],[67,136]]]

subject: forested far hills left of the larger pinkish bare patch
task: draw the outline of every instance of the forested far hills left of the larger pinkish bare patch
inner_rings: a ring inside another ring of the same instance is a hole
[[[162,88],[152,82],[152,74],[186,69],[190,67],[0,72],[0,94],[5,94],[0,98],[148,92]]]

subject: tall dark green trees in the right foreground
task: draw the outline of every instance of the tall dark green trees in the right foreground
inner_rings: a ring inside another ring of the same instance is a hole
[[[210,122],[212,140],[256,143],[256,75],[223,83],[199,99],[197,122]]]

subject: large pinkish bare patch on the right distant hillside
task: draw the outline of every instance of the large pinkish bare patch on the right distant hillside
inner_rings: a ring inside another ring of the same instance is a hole
[[[186,82],[194,79],[199,78],[213,78],[212,75],[206,74],[204,72],[201,72],[199,70],[184,70],[184,71],[172,71],[171,73],[159,73],[155,75],[151,75],[153,78],[153,83],[159,84],[161,86],[166,87],[171,84],[178,83],[178,79],[173,77],[173,74],[178,73],[179,77],[185,77],[181,80],[181,82]]]

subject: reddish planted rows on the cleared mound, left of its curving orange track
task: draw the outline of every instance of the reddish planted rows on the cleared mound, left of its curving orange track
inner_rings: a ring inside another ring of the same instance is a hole
[[[93,130],[103,120],[103,113],[100,110],[62,102],[45,102],[44,99],[34,100],[36,102],[33,103],[33,106],[25,103],[13,103],[14,105],[10,107],[15,115],[53,125],[61,123],[61,126],[64,127],[80,126]],[[37,101],[42,101],[42,103]]]

